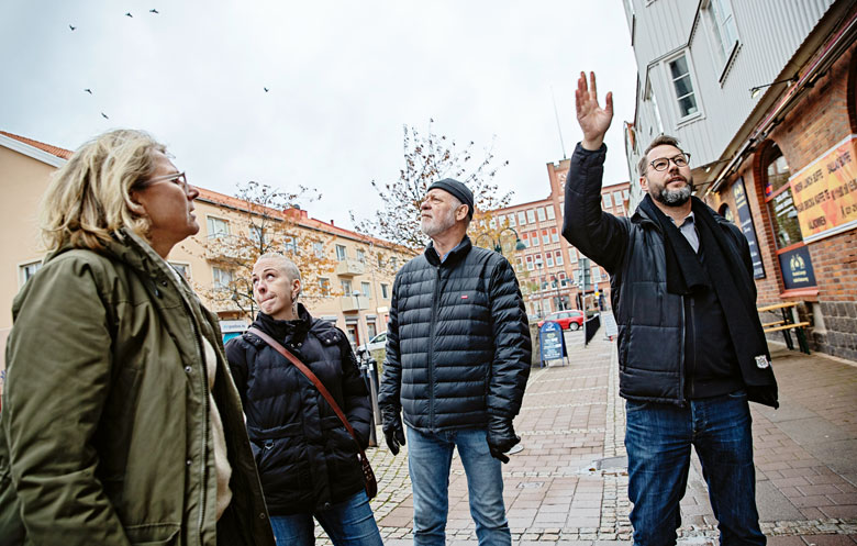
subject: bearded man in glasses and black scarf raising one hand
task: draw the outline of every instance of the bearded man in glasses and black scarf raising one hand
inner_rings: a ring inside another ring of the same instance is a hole
[[[693,445],[721,544],[765,544],[747,400],[777,406],[756,312],[747,239],[691,197],[690,155],[661,135],[639,164],[647,193],[631,219],[601,211],[613,116],[596,77],[576,93],[583,131],[566,186],[563,235],[611,275],[635,545],[676,544]]]

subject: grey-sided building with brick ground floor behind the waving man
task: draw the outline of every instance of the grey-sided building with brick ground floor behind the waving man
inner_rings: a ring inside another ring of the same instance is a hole
[[[857,359],[857,3],[622,1],[632,180],[652,138],[677,136],[697,194],[750,243],[758,304],[798,302],[815,350]]]

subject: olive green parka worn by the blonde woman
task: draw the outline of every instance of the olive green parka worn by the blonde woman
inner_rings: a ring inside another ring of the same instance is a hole
[[[103,253],[49,256],[12,313],[0,545],[218,544],[203,336],[218,354],[229,534],[274,545],[216,316],[143,239],[123,231]]]

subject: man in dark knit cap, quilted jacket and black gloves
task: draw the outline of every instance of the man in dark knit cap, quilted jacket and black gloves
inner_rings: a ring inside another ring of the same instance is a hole
[[[512,420],[530,375],[530,330],[512,266],[465,235],[474,196],[434,182],[421,207],[432,242],[396,276],[380,389],[383,433],[404,444],[414,544],[443,545],[453,449],[458,448],[480,545],[511,544],[500,461],[519,438]]]

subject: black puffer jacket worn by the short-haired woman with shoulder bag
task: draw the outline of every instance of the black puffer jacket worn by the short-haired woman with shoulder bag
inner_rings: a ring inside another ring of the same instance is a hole
[[[348,339],[333,324],[310,316],[302,304],[298,310],[300,321],[259,313],[253,325],[315,374],[365,448],[371,410]],[[298,368],[249,333],[229,342],[226,357],[271,515],[326,509],[364,488],[357,444]]]

